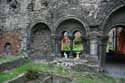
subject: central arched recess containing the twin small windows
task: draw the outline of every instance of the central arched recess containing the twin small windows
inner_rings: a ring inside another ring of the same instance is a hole
[[[86,30],[83,24],[76,19],[64,20],[56,30],[57,56],[76,58],[76,55],[79,55],[77,58],[80,58],[84,45],[87,45],[87,43],[83,44],[83,40],[86,40]]]

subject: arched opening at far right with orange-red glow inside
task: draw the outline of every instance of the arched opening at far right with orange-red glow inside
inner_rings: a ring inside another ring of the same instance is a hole
[[[109,31],[106,62],[125,62],[125,26],[115,26]]]

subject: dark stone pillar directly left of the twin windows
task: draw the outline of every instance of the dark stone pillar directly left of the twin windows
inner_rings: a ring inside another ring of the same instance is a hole
[[[61,57],[61,36],[55,37],[55,56]]]

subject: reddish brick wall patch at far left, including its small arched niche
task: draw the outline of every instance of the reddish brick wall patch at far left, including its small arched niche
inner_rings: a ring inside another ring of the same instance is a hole
[[[19,33],[5,32],[0,34],[0,56],[16,55],[19,51]]]

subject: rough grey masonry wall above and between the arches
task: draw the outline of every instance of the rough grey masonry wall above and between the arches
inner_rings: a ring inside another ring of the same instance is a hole
[[[0,0],[0,29],[3,32],[18,32],[17,47],[27,52],[29,28],[37,22],[46,23],[53,36],[56,25],[70,17],[85,22],[90,33],[98,32],[103,30],[101,24],[111,11],[124,3],[125,0]]]

